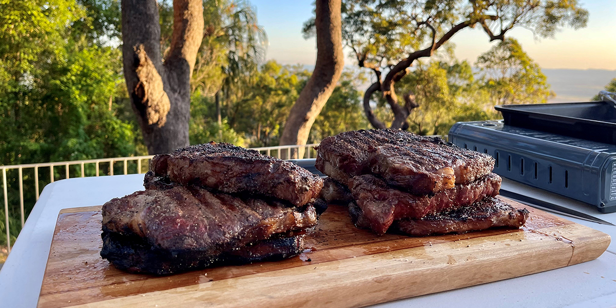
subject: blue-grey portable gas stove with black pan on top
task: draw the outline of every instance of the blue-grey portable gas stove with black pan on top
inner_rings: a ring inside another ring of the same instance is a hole
[[[458,147],[492,155],[494,172],[616,212],[616,100],[497,106],[505,120],[461,122]]]

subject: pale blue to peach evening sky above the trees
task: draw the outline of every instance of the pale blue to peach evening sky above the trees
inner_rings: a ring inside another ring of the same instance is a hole
[[[616,70],[616,0],[578,0],[590,17],[586,28],[564,28],[554,39],[537,40],[529,30],[516,28],[508,34],[516,38],[524,50],[542,68]],[[313,0],[252,0],[259,24],[269,38],[266,58],[283,64],[314,65],[315,39],[302,37],[302,25],[312,16]],[[479,54],[488,51],[486,34],[465,29],[456,34],[456,57],[474,63]],[[348,52],[346,52],[348,54]],[[346,65],[354,65],[351,58]]]

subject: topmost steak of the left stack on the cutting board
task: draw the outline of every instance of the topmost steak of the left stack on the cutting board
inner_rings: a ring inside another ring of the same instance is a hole
[[[225,193],[249,193],[295,206],[317,198],[323,180],[304,168],[232,144],[191,145],[156,155],[150,169],[182,185],[202,185]]]

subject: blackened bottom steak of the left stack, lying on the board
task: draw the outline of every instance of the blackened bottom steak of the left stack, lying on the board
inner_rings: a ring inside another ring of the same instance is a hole
[[[103,231],[100,255],[121,270],[169,275],[214,265],[277,261],[297,256],[304,249],[304,235],[270,238],[230,249],[218,255],[199,250],[166,250],[145,238]]]

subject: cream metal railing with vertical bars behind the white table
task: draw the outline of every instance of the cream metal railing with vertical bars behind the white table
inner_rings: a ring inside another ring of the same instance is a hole
[[[318,144],[307,145],[281,145],[277,147],[260,147],[253,148],[262,154],[275,156],[277,158],[290,158],[291,155],[297,155],[304,151],[302,158],[314,158]],[[17,209],[20,213],[20,221],[13,222],[20,225],[17,226],[17,232],[23,227],[26,221],[27,214],[24,211],[31,209],[34,203],[38,201],[39,194],[45,185],[59,179],[70,179],[74,177],[92,177],[92,176],[113,176],[114,174],[141,174],[149,169],[149,162],[153,155],[119,157],[119,158],[102,158],[98,160],[76,160],[76,161],[59,161],[55,163],[39,163],[39,164],[15,164],[10,166],[0,166],[2,171],[2,188],[4,195],[4,229],[6,231],[6,248],[10,253],[11,235],[10,229],[12,220],[9,212],[10,208]],[[7,180],[7,173],[9,174]],[[41,176],[43,175],[43,176]],[[25,190],[24,180],[29,184],[30,190]],[[32,191],[34,190],[34,191]],[[9,198],[9,192],[14,194]],[[26,194],[24,194],[24,192]],[[17,195],[19,196],[17,198]],[[15,226],[13,226],[15,227]]]

